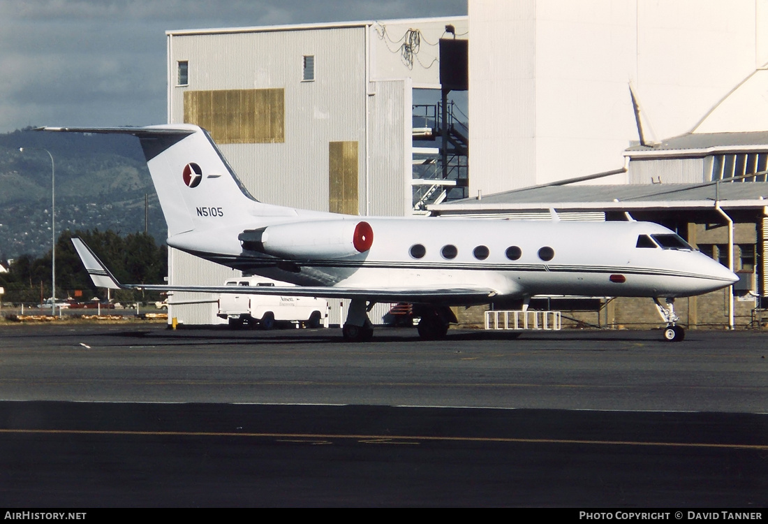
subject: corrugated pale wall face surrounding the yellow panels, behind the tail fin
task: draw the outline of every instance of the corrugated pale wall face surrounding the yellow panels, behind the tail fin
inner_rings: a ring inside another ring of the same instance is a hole
[[[328,211],[329,142],[357,141],[365,170],[365,35],[362,27],[169,35],[169,71],[188,60],[190,78],[169,87],[170,123],[184,120],[184,91],[285,89],[284,143],[220,149],[260,201]],[[315,57],[315,81],[302,81],[303,55]]]

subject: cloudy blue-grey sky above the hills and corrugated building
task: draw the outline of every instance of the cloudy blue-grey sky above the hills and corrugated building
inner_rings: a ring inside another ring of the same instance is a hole
[[[467,0],[2,0],[0,133],[166,122],[167,30],[467,14]]]

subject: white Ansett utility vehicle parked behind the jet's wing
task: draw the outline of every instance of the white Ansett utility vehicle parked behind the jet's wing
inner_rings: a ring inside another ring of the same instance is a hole
[[[226,286],[242,287],[242,293],[222,293],[217,316],[227,319],[231,328],[260,327],[271,330],[275,323],[294,323],[304,327],[320,327],[328,311],[328,301],[313,297],[280,297],[249,294],[249,287],[293,286],[265,277],[231,278]]]

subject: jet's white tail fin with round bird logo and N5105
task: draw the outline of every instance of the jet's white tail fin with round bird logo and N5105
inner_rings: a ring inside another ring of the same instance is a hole
[[[207,132],[196,125],[41,131],[133,134],[139,138],[168,225],[168,237],[216,229],[224,221],[247,224],[259,214],[259,207],[266,207],[248,194]]]

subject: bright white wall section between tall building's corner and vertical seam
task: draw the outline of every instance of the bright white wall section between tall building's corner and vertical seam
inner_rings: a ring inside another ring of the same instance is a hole
[[[637,138],[634,2],[535,3],[535,184],[621,167]]]

